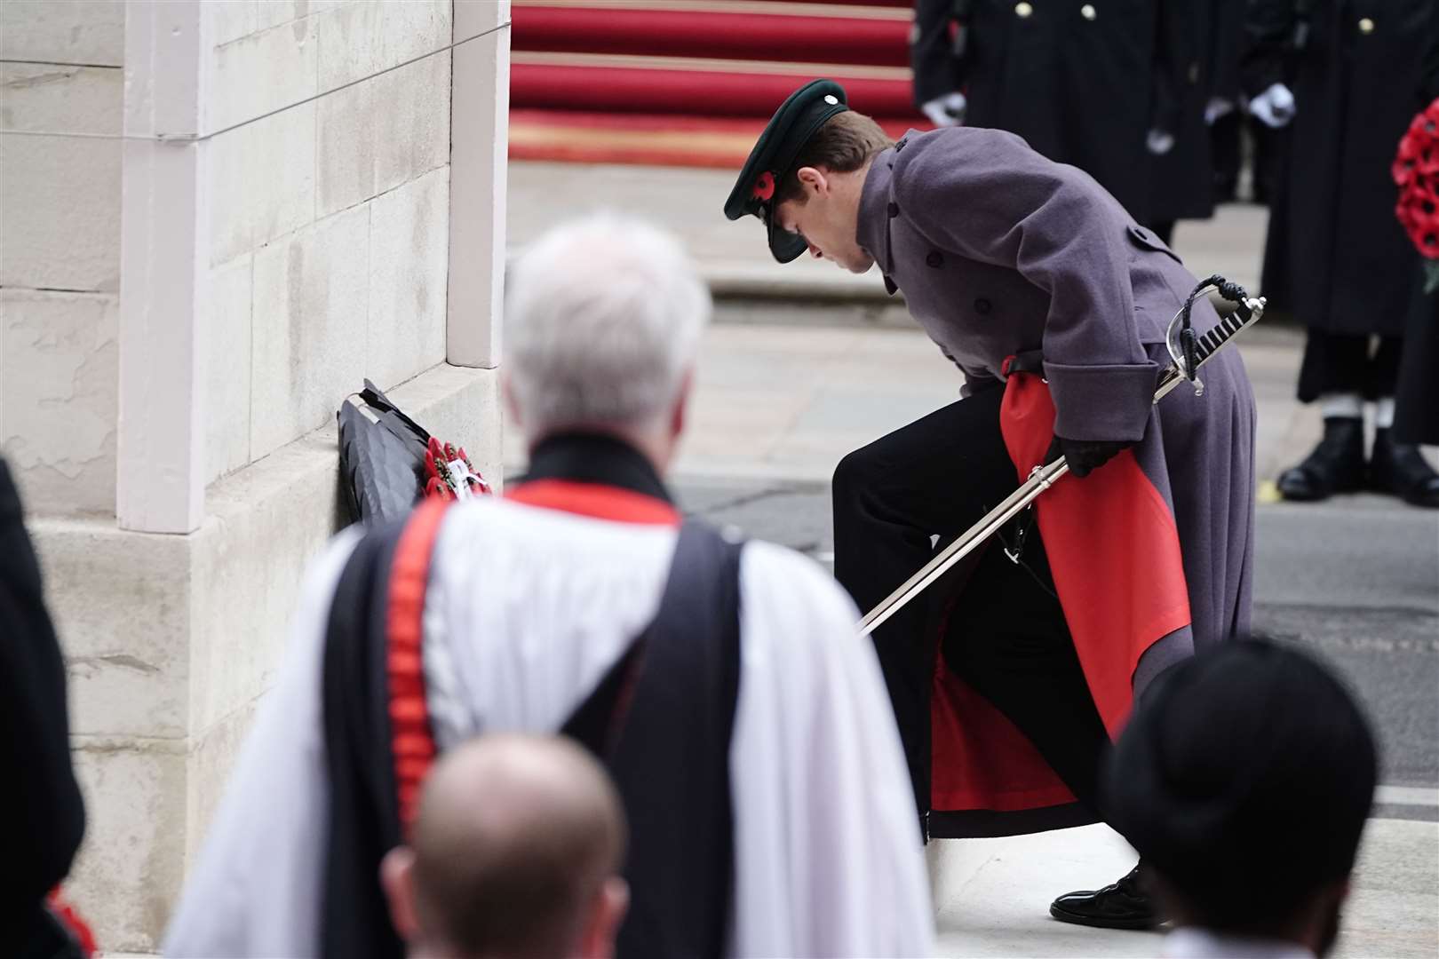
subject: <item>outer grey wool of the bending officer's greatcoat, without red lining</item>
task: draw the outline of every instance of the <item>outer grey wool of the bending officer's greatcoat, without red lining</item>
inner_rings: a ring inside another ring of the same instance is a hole
[[[1007,357],[1042,349],[1055,433],[1137,441],[1135,462],[1173,516],[1191,618],[1111,680],[1138,694],[1196,647],[1246,631],[1255,407],[1239,352],[1204,365],[1204,395],[1181,385],[1153,403],[1168,362],[1164,331],[1197,283],[1179,257],[1084,171],[1014,134],[968,127],[909,131],[873,160],[858,240],[964,372],[966,395],[1003,380]],[[1217,322],[1203,298],[1193,322],[1200,332]],[[1091,479],[1066,482],[1078,496]],[[1098,543],[1128,533],[1085,535]],[[1063,561],[1048,531],[1045,543],[1058,581]],[[1098,585],[1120,600],[1147,589],[1144,578]],[[1068,602],[1065,614],[1073,628]]]

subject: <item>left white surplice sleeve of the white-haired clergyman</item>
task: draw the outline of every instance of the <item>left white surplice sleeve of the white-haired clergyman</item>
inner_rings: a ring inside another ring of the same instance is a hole
[[[321,670],[330,602],[360,528],[311,565],[273,692],[260,705],[165,932],[186,959],[319,955],[328,788]]]

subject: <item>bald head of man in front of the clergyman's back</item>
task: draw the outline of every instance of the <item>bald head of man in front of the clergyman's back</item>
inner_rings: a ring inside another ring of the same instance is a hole
[[[619,795],[580,746],[548,736],[482,736],[448,752],[430,772],[410,848],[397,850],[399,863],[386,867],[386,886],[397,878],[391,871],[407,874],[400,891],[413,904],[412,945],[560,959],[593,952],[584,946],[589,927],[616,891],[623,914],[625,844]],[[603,924],[612,940],[619,916]]]

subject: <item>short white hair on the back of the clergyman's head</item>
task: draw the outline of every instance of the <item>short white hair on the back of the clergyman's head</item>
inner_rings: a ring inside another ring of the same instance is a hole
[[[709,312],[709,290],[669,233],[609,213],[548,230],[508,277],[505,362],[525,437],[661,421]]]

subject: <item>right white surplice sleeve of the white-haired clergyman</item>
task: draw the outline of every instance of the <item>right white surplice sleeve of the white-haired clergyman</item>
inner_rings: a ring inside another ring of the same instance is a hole
[[[909,774],[853,604],[763,542],[744,549],[740,602],[730,955],[932,955]]]

